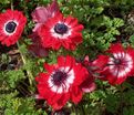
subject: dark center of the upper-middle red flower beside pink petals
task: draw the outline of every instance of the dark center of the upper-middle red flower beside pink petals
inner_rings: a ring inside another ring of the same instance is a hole
[[[54,27],[54,31],[59,34],[64,34],[68,31],[68,27],[64,23],[56,23]]]

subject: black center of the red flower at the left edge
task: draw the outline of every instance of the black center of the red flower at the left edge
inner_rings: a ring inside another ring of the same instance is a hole
[[[14,23],[13,21],[11,21],[11,22],[7,23],[6,31],[8,33],[12,33],[12,32],[14,32],[16,28],[17,28],[17,23]]]

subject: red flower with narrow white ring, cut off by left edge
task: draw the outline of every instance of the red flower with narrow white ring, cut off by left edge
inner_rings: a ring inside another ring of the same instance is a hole
[[[21,36],[27,18],[21,11],[7,10],[0,14],[0,41],[7,46],[14,44]]]

